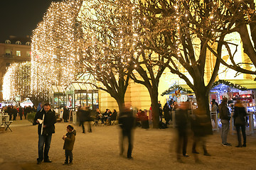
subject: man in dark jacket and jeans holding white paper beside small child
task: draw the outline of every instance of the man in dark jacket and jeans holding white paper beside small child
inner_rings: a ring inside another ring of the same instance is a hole
[[[36,113],[34,123],[38,124],[38,159],[37,164],[51,162],[48,157],[52,134],[55,133],[56,115],[50,108],[49,103],[45,103],[41,111]],[[43,152],[43,145],[45,145]]]

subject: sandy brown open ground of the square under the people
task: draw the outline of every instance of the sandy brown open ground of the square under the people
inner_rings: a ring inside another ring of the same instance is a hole
[[[183,163],[176,162],[175,130],[137,128],[134,133],[134,160],[119,156],[119,128],[117,125],[94,127],[92,133],[82,134],[78,130],[73,150],[74,164],[63,166],[65,159],[62,136],[68,123],[56,123],[50,147],[52,163],[36,164],[38,157],[37,126],[28,120],[16,120],[11,129],[0,133],[0,169],[256,169],[256,135],[247,136],[247,147],[236,148],[236,135],[229,135],[232,147],[220,145],[220,134],[215,132],[208,137],[208,152],[203,156],[198,148],[201,163],[196,164],[191,154],[191,140],[188,154]]]

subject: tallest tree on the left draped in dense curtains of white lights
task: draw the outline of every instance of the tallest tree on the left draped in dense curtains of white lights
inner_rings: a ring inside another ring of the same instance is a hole
[[[38,99],[47,97],[53,84],[68,86],[75,79],[81,4],[81,0],[53,2],[33,30],[31,93]]]

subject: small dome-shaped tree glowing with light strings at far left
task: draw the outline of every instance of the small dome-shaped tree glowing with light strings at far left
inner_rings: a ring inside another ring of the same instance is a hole
[[[3,81],[4,100],[23,100],[30,96],[31,62],[14,63],[8,68]]]

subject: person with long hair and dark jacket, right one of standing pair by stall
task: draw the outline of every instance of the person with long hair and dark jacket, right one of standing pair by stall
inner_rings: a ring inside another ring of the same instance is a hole
[[[238,100],[235,103],[235,111],[234,111],[234,124],[235,129],[237,130],[238,134],[238,145],[235,147],[246,147],[246,134],[245,134],[245,116],[247,115],[247,112],[245,111],[245,106],[242,105],[242,101]],[[241,133],[240,130],[242,130],[242,137],[243,137],[243,145],[241,141]]]

